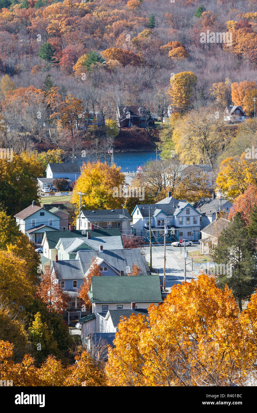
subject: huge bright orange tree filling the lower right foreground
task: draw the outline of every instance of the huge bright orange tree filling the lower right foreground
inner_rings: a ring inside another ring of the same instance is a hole
[[[231,290],[222,291],[214,278],[201,274],[174,285],[162,304],[149,306],[148,316],[120,320],[115,347],[108,352],[107,383],[242,385],[255,363],[252,344],[247,349],[244,344],[248,333]]]

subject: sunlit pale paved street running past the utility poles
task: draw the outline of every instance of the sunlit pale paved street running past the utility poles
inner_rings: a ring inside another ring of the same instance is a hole
[[[186,247],[188,251],[199,250],[200,245],[194,244],[192,247]],[[183,251],[183,248],[182,248]],[[145,247],[146,261],[150,262],[150,247]],[[166,247],[166,290],[170,291],[174,284],[184,281],[184,261],[179,257],[180,247]],[[153,245],[152,247],[152,266],[157,271],[159,270],[160,277],[163,279],[163,246]],[[195,278],[192,274],[192,264],[187,260],[186,265],[186,279],[191,280]]]

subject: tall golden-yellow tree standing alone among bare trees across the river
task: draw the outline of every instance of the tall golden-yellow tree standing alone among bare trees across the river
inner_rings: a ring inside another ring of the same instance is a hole
[[[193,84],[196,83],[197,76],[193,72],[180,72],[170,78],[171,87],[168,94],[172,105],[179,109],[186,109],[193,94]]]

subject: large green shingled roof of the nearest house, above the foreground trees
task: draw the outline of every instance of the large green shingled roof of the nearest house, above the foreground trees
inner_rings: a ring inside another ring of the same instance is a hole
[[[92,303],[161,302],[158,275],[92,277],[88,297]]]

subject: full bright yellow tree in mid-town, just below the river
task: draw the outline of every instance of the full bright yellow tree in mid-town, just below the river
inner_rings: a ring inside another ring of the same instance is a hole
[[[116,165],[108,166],[99,161],[84,162],[81,175],[73,189],[71,203],[75,204],[78,209],[78,192],[81,191],[85,194],[81,195],[81,204],[84,204],[86,209],[121,208],[124,199],[113,196],[113,194],[115,188],[119,188],[119,185],[123,186],[124,183],[124,174]]]

